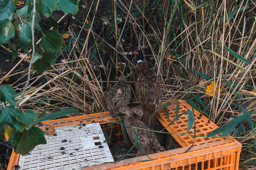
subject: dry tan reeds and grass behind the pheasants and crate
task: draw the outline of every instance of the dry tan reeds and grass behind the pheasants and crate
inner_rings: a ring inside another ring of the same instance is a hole
[[[160,76],[162,101],[190,101],[218,126],[243,114],[240,105],[248,112],[255,109],[256,2],[202,1],[81,0],[84,8],[68,27],[64,48],[50,69],[33,72],[21,109],[39,114],[48,105],[47,114],[69,107],[82,114],[105,111],[101,97],[120,72],[136,96],[135,60],[125,54],[134,48],[144,51]],[[209,97],[205,90],[212,81],[218,93]],[[12,86],[18,90],[24,85]],[[256,113],[251,119],[256,121]],[[245,135],[253,137],[247,121],[243,125]],[[243,144],[240,167],[251,169],[256,165],[254,139],[238,140]]]

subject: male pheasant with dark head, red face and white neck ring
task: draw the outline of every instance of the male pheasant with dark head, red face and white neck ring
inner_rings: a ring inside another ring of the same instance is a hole
[[[143,121],[150,128],[155,128],[156,113],[155,109],[161,103],[161,88],[158,76],[145,63],[143,52],[134,50],[133,56],[137,58],[136,74],[137,74],[137,97],[140,102],[144,114],[141,121]]]

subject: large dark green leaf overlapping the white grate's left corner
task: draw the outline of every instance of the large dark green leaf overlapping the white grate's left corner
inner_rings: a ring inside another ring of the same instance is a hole
[[[32,151],[38,144],[46,144],[45,131],[38,127],[31,127],[21,136],[15,153],[26,155]]]

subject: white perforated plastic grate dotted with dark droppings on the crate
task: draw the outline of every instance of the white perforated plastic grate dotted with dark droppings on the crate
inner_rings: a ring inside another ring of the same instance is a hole
[[[99,123],[55,127],[55,134],[20,155],[21,170],[77,170],[114,161]]]

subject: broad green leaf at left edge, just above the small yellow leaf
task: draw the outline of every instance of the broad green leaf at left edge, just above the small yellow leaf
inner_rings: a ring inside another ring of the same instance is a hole
[[[0,127],[4,124],[8,124],[10,127],[21,132],[22,130],[19,126],[18,117],[19,110],[14,108],[13,105],[2,107],[0,110]]]

